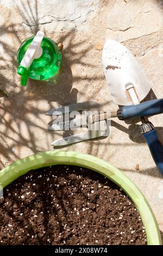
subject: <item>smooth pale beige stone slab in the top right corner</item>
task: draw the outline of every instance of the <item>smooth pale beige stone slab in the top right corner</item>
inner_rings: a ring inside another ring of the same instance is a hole
[[[108,13],[106,38],[120,42],[159,31],[162,28],[161,1],[115,1]]]

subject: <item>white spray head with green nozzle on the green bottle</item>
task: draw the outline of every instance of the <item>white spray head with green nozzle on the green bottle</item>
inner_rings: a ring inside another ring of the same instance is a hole
[[[44,33],[38,31],[35,35],[33,41],[29,45],[28,50],[24,54],[24,57],[21,60],[20,65],[17,69],[17,74],[21,75],[21,85],[26,86],[28,75],[29,75],[29,66],[32,64],[34,59],[40,58],[42,55],[41,42],[43,39]]]

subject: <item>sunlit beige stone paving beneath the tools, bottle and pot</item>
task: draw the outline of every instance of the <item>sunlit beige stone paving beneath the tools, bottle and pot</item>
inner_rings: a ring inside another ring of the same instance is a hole
[[[1,168],[17,159],[53,149],[55,139],[73,131],[48,132],[45,112],[68,103],[111,101],[102,68],[102,46],[111,38],[135,55],[152,83],[147,99],[163,97],[163,1],[157,0],[0,0]],[[64,44],[57,84],[28,81],[20,86],[16,54],[38,30]],[[163,143],[163,114],[149,118]],[[101,157],[126,173],[145,194],[163,231],[163,179],[140,135],[139,119],[111,120],[111,134],[64,150]],[[139,164],[139,170],[135,167]]]

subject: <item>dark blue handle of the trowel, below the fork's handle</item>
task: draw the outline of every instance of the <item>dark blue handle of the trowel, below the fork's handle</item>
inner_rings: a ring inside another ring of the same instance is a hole
[[[154,126],[151,124],[151,122],[142,124],[140,126],[140,129],[141,133],[143,134],[143,137],[146,139],[153,160],[155,161],[156,166],[163,175],[163,145],[159,141],[159,137],[156,134],[156,130],[154,129]]]

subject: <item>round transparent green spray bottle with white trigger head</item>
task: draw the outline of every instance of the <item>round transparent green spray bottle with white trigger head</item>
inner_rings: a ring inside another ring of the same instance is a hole
[[[61,58],[57,43],[44,36],[42,31],[23,41],[17,51],[17,74],[22,77],[21,85],[26,86],[28,77],[43,81],[57,75]]]

